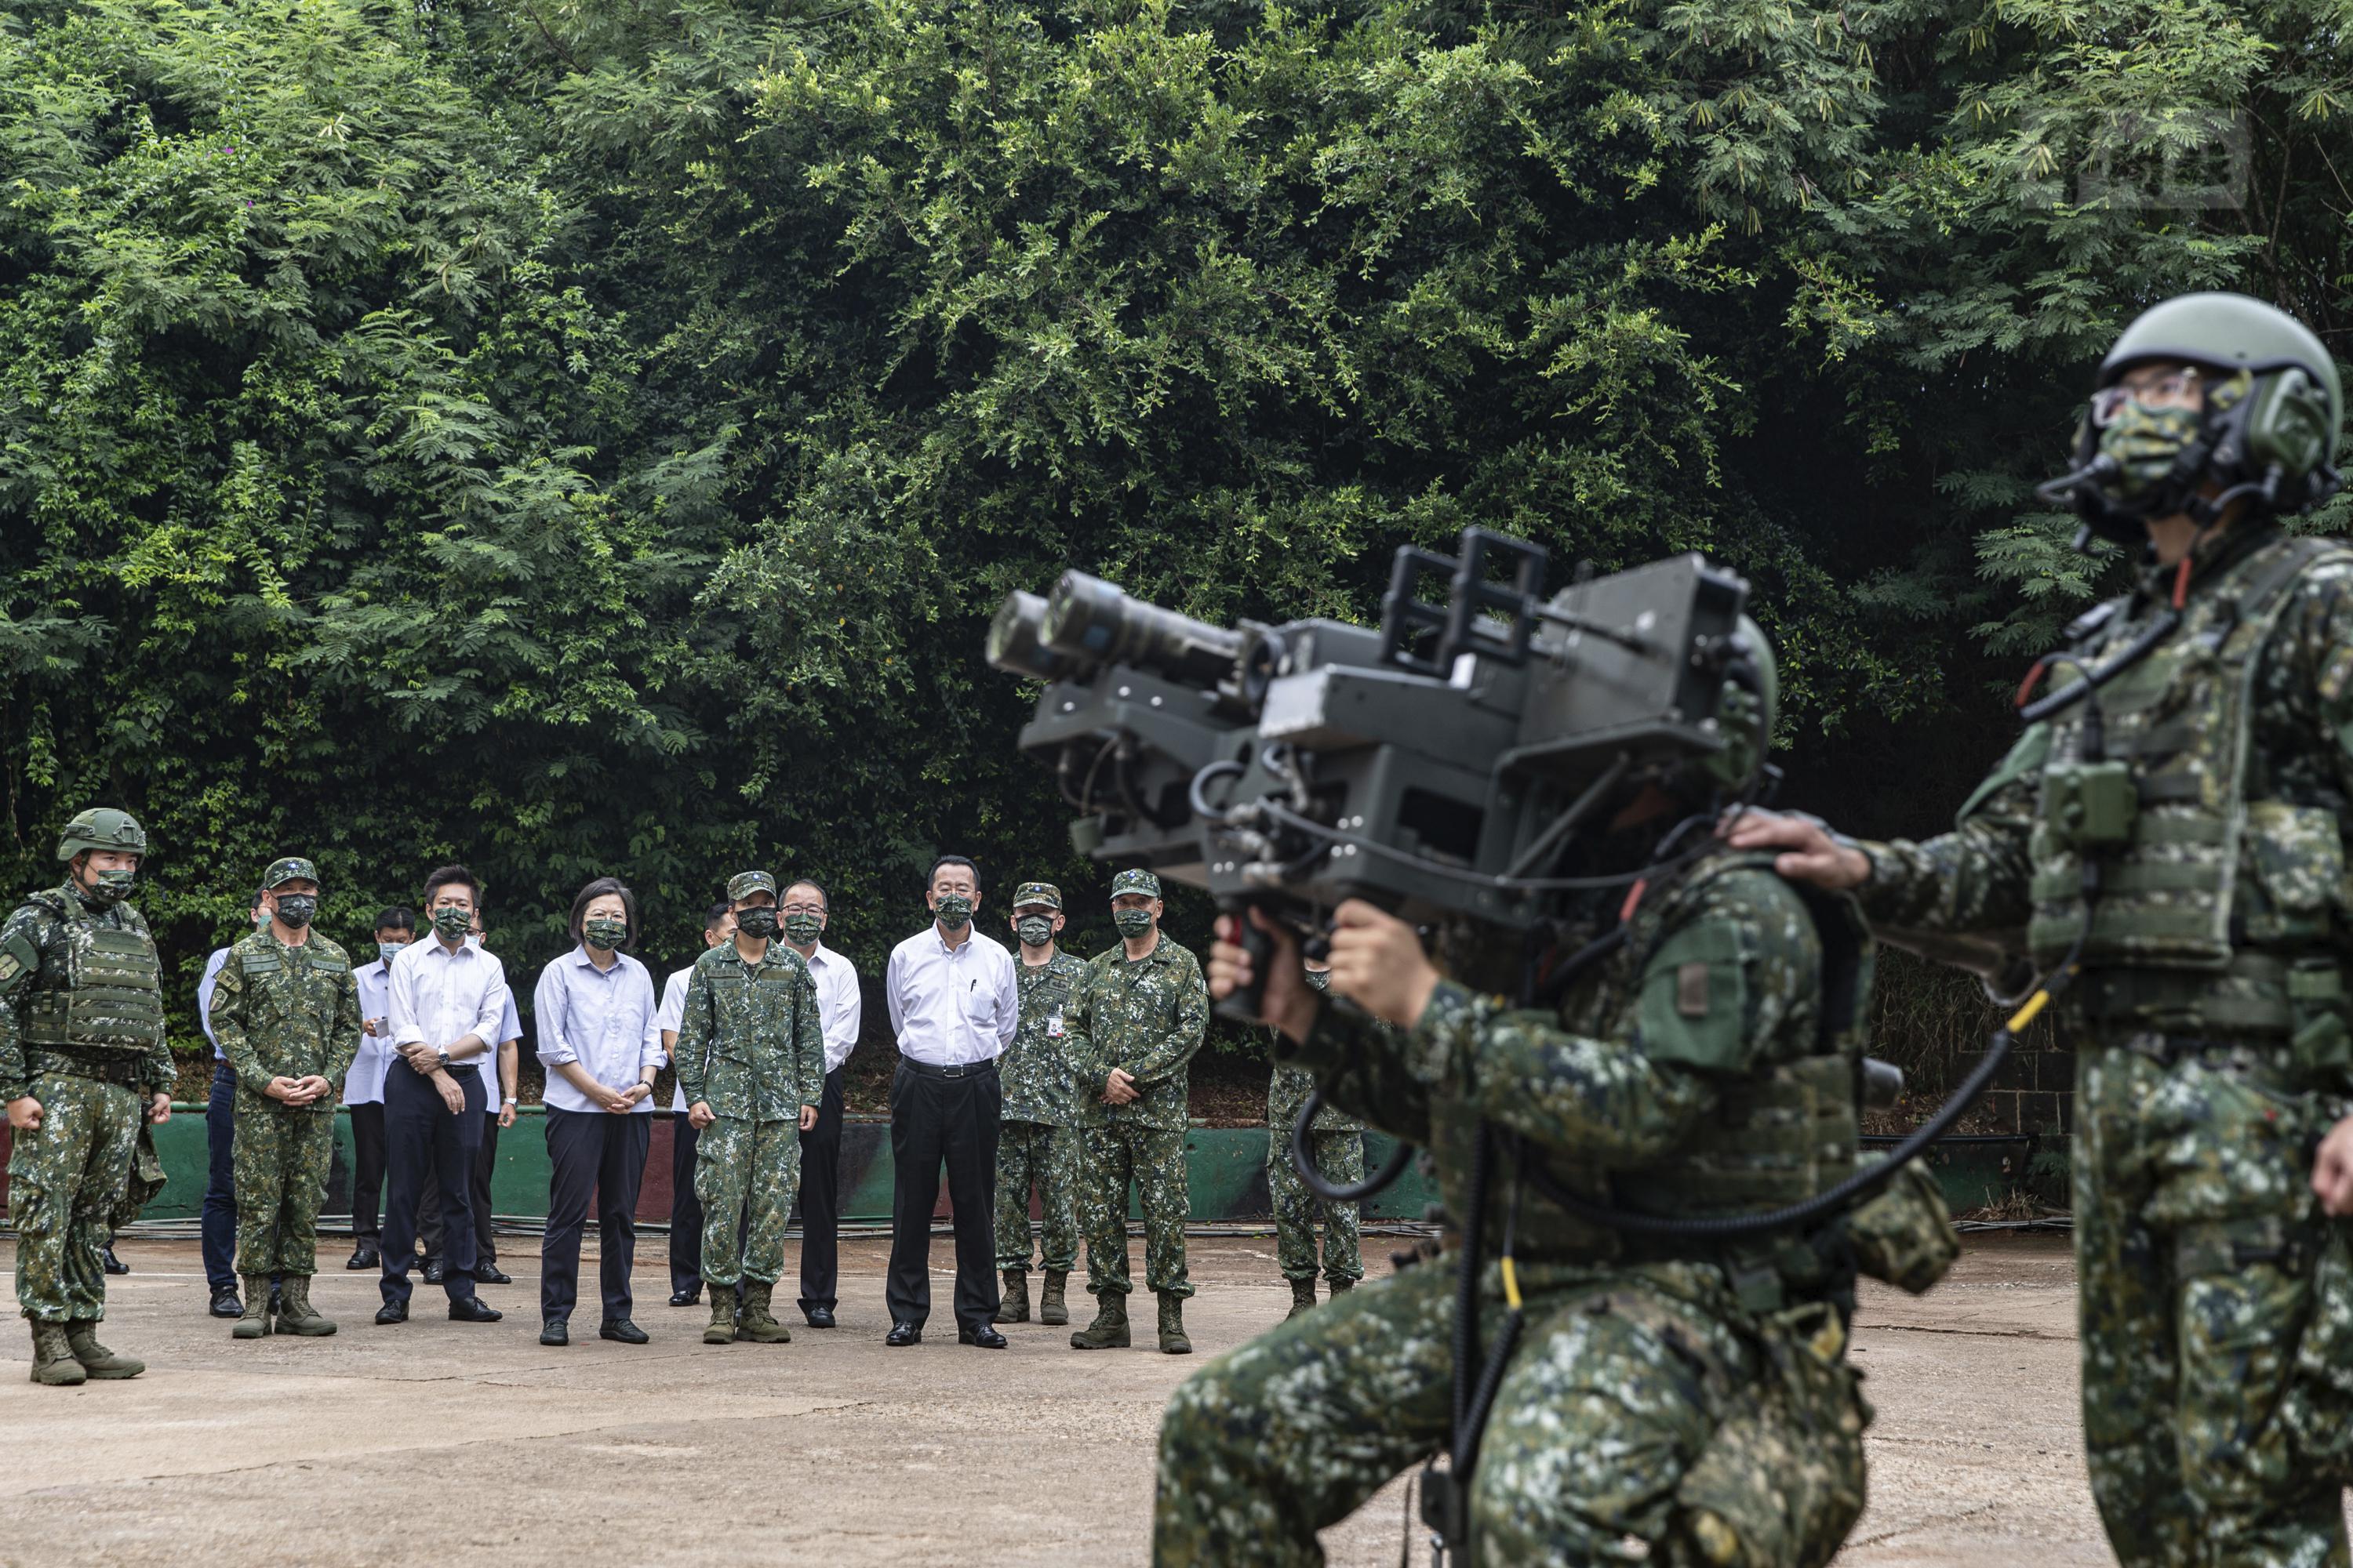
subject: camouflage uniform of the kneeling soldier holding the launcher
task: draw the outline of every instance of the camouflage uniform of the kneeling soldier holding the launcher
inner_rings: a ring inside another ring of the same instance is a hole
[[[1520,1175],[1541,1164],[1586,1199],[1699,1215],[1772,1208],[1852,1171],[1868,947],[1842,933],[1833,985],[1800,893],[1720,856],[1652,886],[1631,940],[1558,1018],[1447,980],[1414,1030],[1325,1006],[1294,1048],[1337,1100],[1428,1150],[1454,1215],[1492,1140],[1482,1237],[1489,1260],[1513,1237],[1525,1326],[1471,1479],[1466,1561],[1814,1568],[1861,1512],[1852,1276],[1774,1237],[1624,1237]],[[1158,1563],[1320,1563],[1315,1530],[1445,1446],[1454,1246],[1176,1389]],[[1504,1316],[1489,1262],[1482,1356]]]

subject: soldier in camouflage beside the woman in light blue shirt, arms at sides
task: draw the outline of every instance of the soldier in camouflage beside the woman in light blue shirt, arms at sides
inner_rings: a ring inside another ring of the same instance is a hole
[[[826,1093],[826,1034],[809,966],[776,936],[776,879],[741,872],[727,884],[736,933],[687,978],[678,1023],[678,1086],[694,1145],[694,1199],[704,1206],[704,1345],[739,1335],[784,1345],[793,1331],[769,1300],[784,1274],[784,1222],[800,1190],[800,1133]],[[736,1215],[751,1213],[736,1251]],[[736,1284],[741,1281],[741,1305]]]

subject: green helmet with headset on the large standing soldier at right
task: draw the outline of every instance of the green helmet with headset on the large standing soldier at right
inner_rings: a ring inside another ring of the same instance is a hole
[[[2200,414],[2169,418],[2115,390],[2125,371],[2162,362],[2202,371]],[[2245,294],[2181,294],[2125,327],[2075,430],[2075,468],[2038,494],[2082,517],[2078,548],[2092,534],[2137,545],[2146,520],[2174,512],[2212,524],[2235,501],[2301,512],[2341,484],[2341,421],[2337,362],[2304,322]],[[2120,447],[2132,456],[2120,461]]]

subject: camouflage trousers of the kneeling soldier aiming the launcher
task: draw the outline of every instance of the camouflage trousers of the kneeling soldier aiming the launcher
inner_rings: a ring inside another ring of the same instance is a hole
[[[1487,1281],[1482,1352],[1504,1319]],[[1322,1563],[1320,1528],[1447,1446],[1454,1286],[1452,1258],[1409,1267],[1186,1380],[1160,1422],[1153,1561]],[[1748,1319],[1694,1265],[1529,1267],[1522,1288],[1461,1561],[1831,1561],[1864,1507],[1864,1410],[1828,1307]]]

